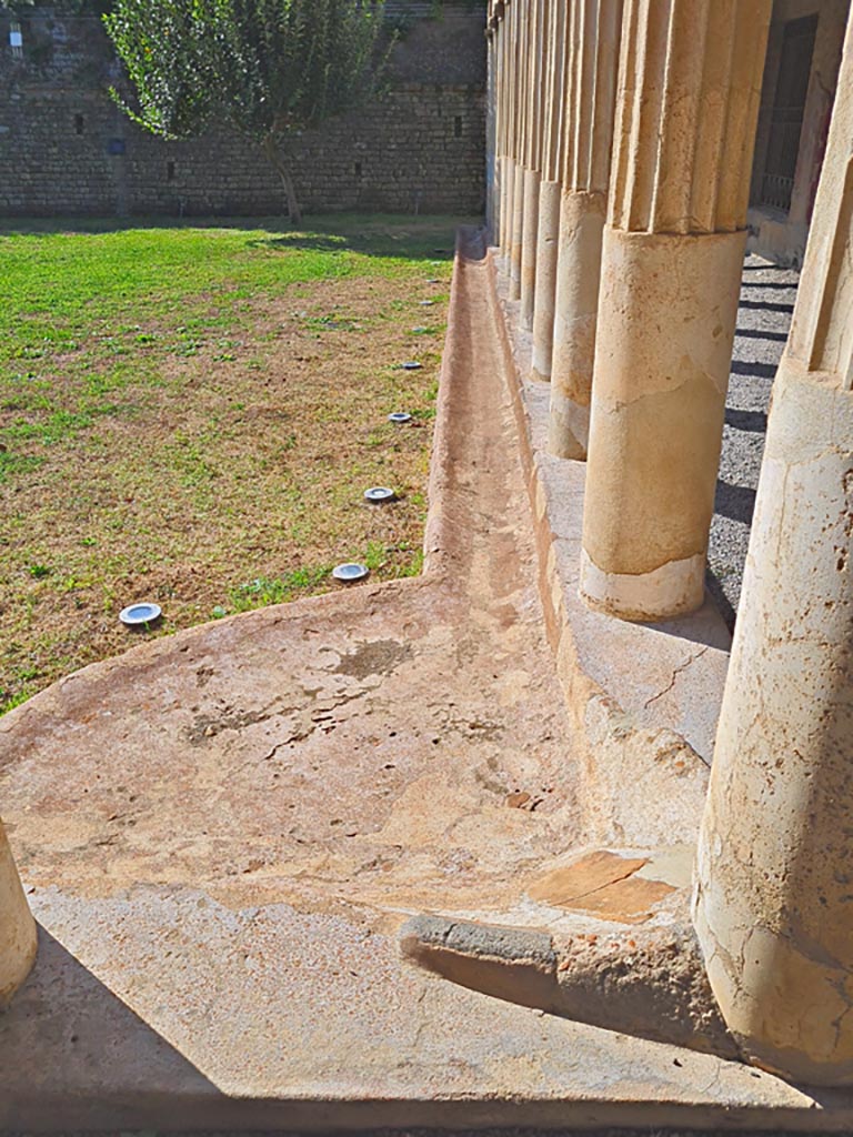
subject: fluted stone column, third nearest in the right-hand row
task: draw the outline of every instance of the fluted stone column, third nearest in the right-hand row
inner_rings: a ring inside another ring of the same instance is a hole
[[[548,449],[586,459],[622,0],[571,7]]]

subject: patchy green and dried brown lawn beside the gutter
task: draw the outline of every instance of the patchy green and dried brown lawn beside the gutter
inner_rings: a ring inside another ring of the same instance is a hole
[[[133,600],[163,634],[420,571],[455,225],[0,229],[0,712],[138,642]]]

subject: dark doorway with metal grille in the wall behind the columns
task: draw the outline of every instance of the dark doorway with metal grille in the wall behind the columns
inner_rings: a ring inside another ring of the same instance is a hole
[[[761,204],[786,213],[790,209],[817,30],[818,17],[805,16],[789,20],[782,31]]]

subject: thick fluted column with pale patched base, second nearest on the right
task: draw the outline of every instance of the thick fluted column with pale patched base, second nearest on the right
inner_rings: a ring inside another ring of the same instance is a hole
[[[581,596],[698,608],[771,0],[626,0]]]

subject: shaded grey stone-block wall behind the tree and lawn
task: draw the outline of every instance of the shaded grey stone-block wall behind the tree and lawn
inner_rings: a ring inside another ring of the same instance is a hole
[[[166,142],[106,93],[117,66],[94,19],[22,22],[24,56],[0,11],[0,215],[278,213],[263,155],[213,130]],[[416,19],[395,50],[380,99],[296,141],[308,211],[480,213],[485,166],[485,41],[479,6]]]

